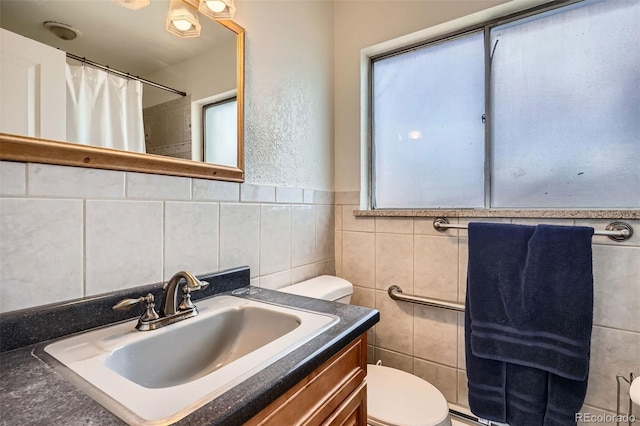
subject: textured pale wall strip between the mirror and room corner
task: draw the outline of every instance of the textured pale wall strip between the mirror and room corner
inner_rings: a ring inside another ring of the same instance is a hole
[[[333,3],[243,2],[247,182],[333,189]]]

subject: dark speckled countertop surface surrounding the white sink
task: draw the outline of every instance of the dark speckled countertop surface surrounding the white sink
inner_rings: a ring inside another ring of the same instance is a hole
[[[248,281],[241,275],[242,279],[236,281]],[[248,278],[248,270],[246,275]],[[232,287],[239,288],[237,284]],[[250,288],[257,292],[238,297],[332,314],[340,321],[175,424],[227,426],[244,423],[379,321],[376,310]],[[216,295],[232,291],[228,287],[226,290]],[[18,318],[24,319],[24,315]],[[4,319],[0,317],[0,321]],[[15,315],[4,321],[5,327],[0,327],[1,334],[11,334],[8,331],[11,321],[15,321]],[[5,347],[6,341],[3,337]],[[44,344],[28,344],[0,353],[0,424],[124,424],[40,360],[34,350]]]

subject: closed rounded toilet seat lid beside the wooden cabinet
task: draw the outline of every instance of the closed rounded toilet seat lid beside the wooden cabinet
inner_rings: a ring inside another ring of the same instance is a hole
[[[451,424],[447,400],[431,383],[381,365],[367,365],[367,412],[371,426]]]

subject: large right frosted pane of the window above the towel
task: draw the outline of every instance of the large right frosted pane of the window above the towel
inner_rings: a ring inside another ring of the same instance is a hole
[[[492,207],[640,207],[638,23],[616,0],[492,29]]]

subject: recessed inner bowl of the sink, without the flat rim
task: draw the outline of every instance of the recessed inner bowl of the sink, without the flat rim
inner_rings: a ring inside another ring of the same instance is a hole
[[[289,313],[242,305],[201,317],[188,324],[188,331],[169,328],[118,348],[104,365],[147,388],[182,385],[284,336],[300,323]]]

